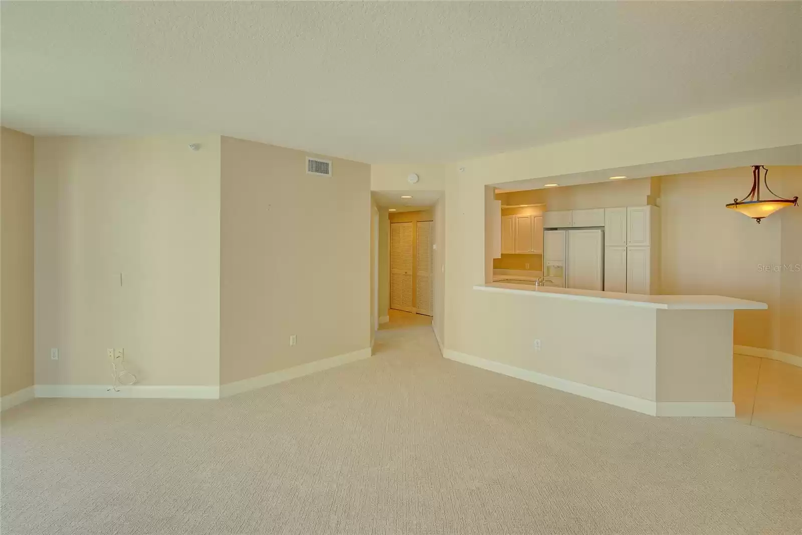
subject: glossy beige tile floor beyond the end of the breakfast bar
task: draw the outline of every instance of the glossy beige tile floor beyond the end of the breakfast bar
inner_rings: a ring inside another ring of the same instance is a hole
[[[802,436],[802,368],[746,355],[734,355],[732,364],[735,417]]]

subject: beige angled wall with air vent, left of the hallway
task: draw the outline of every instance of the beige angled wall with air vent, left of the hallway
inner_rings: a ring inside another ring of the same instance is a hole
[[[221,140],[221,384],[370,347],[370,166],[307,155]]]

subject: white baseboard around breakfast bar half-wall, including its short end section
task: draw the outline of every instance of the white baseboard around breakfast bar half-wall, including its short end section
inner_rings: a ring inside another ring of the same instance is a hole
[[[456,360],[463,364],[483,368],[505,376],[540,384],[541,386],[569,392],[602,401],[602,403],[628,408],[631,411],[642,412],[650,416],[735,416],[735,404],[731,401],[660,401],[644,400],[640,397],[629,396],[621,392],[597,388],[589,384],[576,383],[560,377],[548,376],[545,373],[533,372],[523,368],[516,368],[509,364],[502,364],[494,360],[483,359],[478,356],[467,355],[446,349],[443,355],[447,359]]]

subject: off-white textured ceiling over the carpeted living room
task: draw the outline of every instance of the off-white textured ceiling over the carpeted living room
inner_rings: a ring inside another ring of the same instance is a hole
[[[2,2],[2,123],[445,162],[802,93],[802,2]]]

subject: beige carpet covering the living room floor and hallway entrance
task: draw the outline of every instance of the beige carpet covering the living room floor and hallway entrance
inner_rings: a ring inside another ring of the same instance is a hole
[[[802,439],[444,360],[431,328],[225,400],[3,413],[2,533],[802,533]]]

